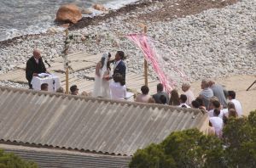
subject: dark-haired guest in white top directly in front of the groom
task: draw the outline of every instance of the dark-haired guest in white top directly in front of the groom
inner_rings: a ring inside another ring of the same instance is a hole
[[[113,100],[124,100],[126,97],[126,86],[124,77],[116,73],[113,75],[113,82],[109,85],[110,98]]]

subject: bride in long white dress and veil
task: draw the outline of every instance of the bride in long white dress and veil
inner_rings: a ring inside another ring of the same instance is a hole
[[[96,64],[93,97],[110,98],[108,76],[110,76],[111,70],[108,62],[109,57],[111,57],[110,54],[103,53],[101,61]]]

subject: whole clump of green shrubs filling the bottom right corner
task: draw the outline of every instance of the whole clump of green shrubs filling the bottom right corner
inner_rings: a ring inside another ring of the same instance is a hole
[[[223,139],[196,129],[172,132],[162,143],[137,150],[130,167],[256,167],[256,110],[230,118]]]

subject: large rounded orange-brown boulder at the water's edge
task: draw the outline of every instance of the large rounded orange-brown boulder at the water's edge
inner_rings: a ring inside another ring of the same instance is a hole
[[[67,4],[61,6],[56,14],[57,21],[71,22],[73,24],[77,23],[82,19],[81,11],[79,7],[74,4]]]

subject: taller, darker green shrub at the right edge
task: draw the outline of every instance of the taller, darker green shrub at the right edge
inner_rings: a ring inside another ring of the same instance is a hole
[[[256,167],[256,110],[230,119],[224,127],[225,159],[230,167]]]

